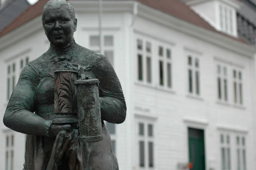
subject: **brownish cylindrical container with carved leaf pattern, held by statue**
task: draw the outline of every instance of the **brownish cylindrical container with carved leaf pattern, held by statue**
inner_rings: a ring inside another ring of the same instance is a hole
[[[55,72],[54,113],[53,124],[78,123],[76,92],[74,82],[77,71],[61,68]]]

